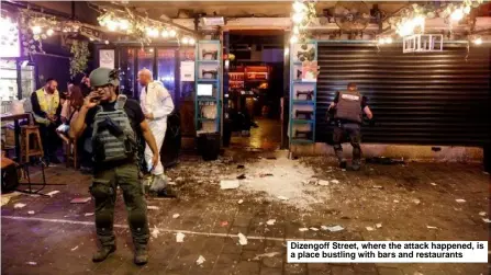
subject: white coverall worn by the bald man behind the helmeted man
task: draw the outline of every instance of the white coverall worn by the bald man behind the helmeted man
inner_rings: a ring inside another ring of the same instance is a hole
[[[170,93],[159,81],[152,81],[148,85],[142,89],[140,94],[140,104],[144,114],[153,114],[154,119],[147,119],[150,130],[154,134],[155,141],[157,142],[158,151],[164,144],[167,130],[167,116],[174,111],[174,102]],[[152,163],[152,157],[154,153],[150,147],[145,147],[145,161]],[[157,167],[152,170],[152,174],[164,174],[164,167],[161,161],[158,161]]]

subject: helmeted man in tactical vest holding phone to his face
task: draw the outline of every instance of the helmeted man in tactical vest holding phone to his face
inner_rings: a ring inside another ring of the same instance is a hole
[[[158,163],[158,148],[140,104],[118,95],[116,70],[98,68],[90,73],[92,92],[85,99],[70,136],[79,137],[92,125],[93,182],[90,193],[96,199],[96,230],[101,249],[93,262],[104,261],[115,251],[113,232],[116,188],[123,191],[127,220],[135,247],[135,264],[148,261],[149,238],[146,202],[138,176],[137,138],[143,137],[153,151],[152,165]]]

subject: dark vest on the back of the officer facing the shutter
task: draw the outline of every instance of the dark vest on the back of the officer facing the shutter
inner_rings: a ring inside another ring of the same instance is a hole
[[[334,118],[361,123],[361,94],[358,91],[341,91]]]

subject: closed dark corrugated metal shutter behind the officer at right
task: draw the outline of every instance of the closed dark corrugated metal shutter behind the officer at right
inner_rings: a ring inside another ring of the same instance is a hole
[[[482,145],[490,140],[489,48],[444,45],[402,54],[402,46],[319,44],[316,140],[332,140],[325,115],[335,92],[356,82],[377,118],[366,142]]]

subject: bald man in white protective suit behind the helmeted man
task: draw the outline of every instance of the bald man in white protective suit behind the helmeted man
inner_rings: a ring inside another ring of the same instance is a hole
[[[160,81],[153,80],[152,71],[148,69],[138,71],[138,82],[143,87],[140,94],[140,104],[160,152],[167,130],[167,116],[174,111],[172,98]],[[146,187],[149,186],[150,195],[176,197],[176,194],[167,184],[160,160],[156,167],[148,167],[150,165],[148,163],[152,163],[152,150],[146,145],[145,162],[147,163],[148,172],[152,174],[146,177],[145,185]]]

